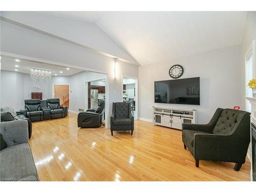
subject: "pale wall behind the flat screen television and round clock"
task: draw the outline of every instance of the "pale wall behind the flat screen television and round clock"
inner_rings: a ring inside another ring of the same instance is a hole
[[[139,67],[139,118],[152,120],[152,106],[166,106],[197,109],[198,123],[206,123],[219,107],[241,106],[240,50],[232,46]],[[168,72],[175,64],[184,68],[181,78],[200,77],[201,105],[154,103],[154,81],[172,79]]]

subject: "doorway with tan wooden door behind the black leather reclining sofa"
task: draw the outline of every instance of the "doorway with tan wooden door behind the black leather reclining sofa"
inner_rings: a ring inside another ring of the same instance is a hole
[[[69,84],[53,84],[53,98],[59,98],[60,106],[67,106],[69,109]]]

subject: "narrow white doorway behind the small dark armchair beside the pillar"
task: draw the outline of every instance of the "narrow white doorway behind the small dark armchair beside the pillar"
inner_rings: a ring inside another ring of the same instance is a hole
[[[134,119],[138,119],[138,78],[122,76],[122,101],[131,103]]]

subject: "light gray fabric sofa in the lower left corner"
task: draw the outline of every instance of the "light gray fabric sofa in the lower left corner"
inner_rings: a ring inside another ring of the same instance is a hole
[[[29,146],[28,121],[1,122],[7,148],[0,151],[0,181],[39,181]]]

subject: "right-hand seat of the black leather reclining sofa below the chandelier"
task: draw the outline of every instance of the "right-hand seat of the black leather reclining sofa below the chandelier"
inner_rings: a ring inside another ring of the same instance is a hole
[[[58,98],[47,99],[47,106],[51,110],[51,119],[65,117],[67,107],[60,106]]]

